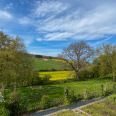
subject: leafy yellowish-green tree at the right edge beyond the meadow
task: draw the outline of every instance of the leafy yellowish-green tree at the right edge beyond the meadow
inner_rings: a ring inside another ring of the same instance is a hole
[[[115,80],[116,74],[116,45],[103,44],[96,50],[96,55],[99,59],[99,67],[101,75],[112,74]]]

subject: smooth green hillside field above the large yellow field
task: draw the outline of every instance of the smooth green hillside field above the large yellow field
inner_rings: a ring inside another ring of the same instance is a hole
[[[58,70],[62,65],[63,62],[58,62],[52,59],[49,59],[48,61],[42,61],[41,58],[34,58],[35,61],[35,68],[40,70],[40,69],[56,69]],[[62,65],[61,65],[62,63]]]

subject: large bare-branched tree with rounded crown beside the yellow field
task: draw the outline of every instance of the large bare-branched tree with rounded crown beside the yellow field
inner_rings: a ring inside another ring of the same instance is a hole
[[[71,68],[75,71],[77,80],[79,81],[79,70],[88,66],[89,60],[93,55],[94,50],[86,42],[81,41],[77,43],[71,43],[67,48],[64,48],[58,57],[70,64]],[[71,61],[74,61],[71,62]]]

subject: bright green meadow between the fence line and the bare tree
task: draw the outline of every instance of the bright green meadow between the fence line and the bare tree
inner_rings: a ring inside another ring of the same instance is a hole
[[[43,89],[32,90],[30,87],[26,87],[17,88],[17,90],[22,93],[22,102],[20,104],[25,104],[28,99],[30,99],[28,104],[33,104],[40,102],[43,95],[49,95],[51,100],[55,98],[62,98],[64,96],[65,87],[67,87],[69,90],[74,89],[75,94],[82,94],[84,89],[88,89],[88,92],[100,91],[101,84],[107,85],[108,88],[111,88],[113,84],[116,83],[112,82],[111,80],[112,78],[91,79],[88,81],[81,82],[70,82],[56,85],[42,85]],[[40,85],[34,87],[39,86]],[[11,92],[13,92],[13,89],[6,89],[6,101],[9,101]],[[1,109],[2,106],[0,106],[0,110]]]

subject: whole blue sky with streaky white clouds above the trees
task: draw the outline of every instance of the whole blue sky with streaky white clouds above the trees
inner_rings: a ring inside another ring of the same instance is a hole
[[[71,43],[116,44],[116,0],[0,0],[0,29],[31,54],[57,56]]]

